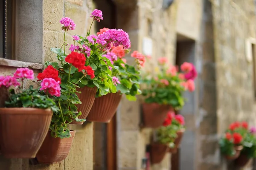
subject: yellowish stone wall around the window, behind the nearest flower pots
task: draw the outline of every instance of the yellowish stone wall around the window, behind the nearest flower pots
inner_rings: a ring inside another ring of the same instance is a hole
[[[26,1],[23,4],[23,13],[26,13],[26,8],[32,9],[34,7],[40,8],[43,16],[28,18],[32,20],[33,24],[43,23],[42,29],[33,29],[33,31],[39,31],[35,34],[30,34],[28,30],[32,28],[33,25],[26,25],[28,28],[27,33],[30,35],[42,35],[42,37],[31,37],[40,42],[35,42],[31,45],[32,41],[23,41],[22,45],[29,46],[29,49],[39,48],[42,49],[42,53],[38,53],[35,60],[31,58],[29,53],[22,54],[17,53],[16,59],[29,62],[38,62],[40,64],[26,63],[19,61],[10,61],[1,59],[0,60],[0,74],[8,75],[12,74],[17,67],[29,66],[35,69],[35,73],[40,72],[43,69],[43,63],[45,61],[56,61],[55,54],[50,51],[51,47],[61,47],[63,43],[63,31],[61,31],[61,24],[59,20],[62,17],[70,17],[77,24],[76,30],[68,31],[66,39],[68,43],[72,42],[71,35],[80,34],[85,35],[90,27],[91,18],[90,12],[92,11],[92,0],[44,0],[40,6],[35,5],[34,1]],[[24,1],[25,2],[25,1]],[[20,1],[23,3],[23,1]],[[22,4],[20,4],[22,6]],[[27,12],[30,12],[27,9]],[[40,12],[40,10],[37,12]],[[23,14],[22,13],[22,14]],[[33,16],[33,14],[27,15],[25,17]],[[24,18],[23,18],[24,19]],[[36,21],[35,21],[36,19]],[[24,25],[20,24],[24,27]],[[41,30],[41,31],[40,31]],[[22,34],[20,34],[22,36]],[[26,39],[22,39],[26,40]],[[38,46],[37,46],[38,45]],[[41,45],[41,46],[40,46]],[[68,49],[66,49],[68,51]],[[33,53],[34,54],[34,53]],[[26,83],[25,86],[33,84],[31,82]],[[76,136],[73,140],[73,145],[70,150],[70,154],[63,162],[60,164],[53,165],[30,165],[29,159],[5,159],[0,156],[0,169],[1,170],[93,170],[93,123],[84,123],[84,125],[70,125],[70,129],[76,130]]]

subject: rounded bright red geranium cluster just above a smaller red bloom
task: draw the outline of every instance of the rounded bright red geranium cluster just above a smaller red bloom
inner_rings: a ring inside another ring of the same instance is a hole
[[[86,58],[82,53],[72,51],[71,54],[67,55],[65,61],[72,64],[74,67],[78,68],[79,72],[85,70],[84,65]]]

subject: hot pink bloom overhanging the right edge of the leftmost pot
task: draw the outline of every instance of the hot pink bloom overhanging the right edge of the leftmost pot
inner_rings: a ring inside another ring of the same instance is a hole
[[[45,78],[41,82],[41,91],[48,92],[52,96],[61,96],[61,87],[59,82],[56,82],[55,79]]]

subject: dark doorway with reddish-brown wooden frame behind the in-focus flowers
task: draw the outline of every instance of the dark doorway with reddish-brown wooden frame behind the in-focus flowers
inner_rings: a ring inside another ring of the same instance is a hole
[[[116,28],[116,6],[112,0],[93,0],[104,20],[97,22],[94,34],[100,28]],[[93,170],[116,170],[116,116],[109,123],[94,123]]]

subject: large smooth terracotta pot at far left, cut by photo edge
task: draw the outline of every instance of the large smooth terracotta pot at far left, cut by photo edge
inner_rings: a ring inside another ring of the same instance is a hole
[[[7,158],[35,158],[52,119],[50,109],[0,108],[0,150]]]

